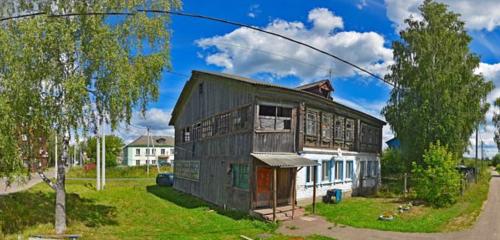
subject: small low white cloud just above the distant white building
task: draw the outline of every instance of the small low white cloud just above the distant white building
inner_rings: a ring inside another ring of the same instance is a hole
[[[128,144],[141,135],[147,134],[147,128],[150,128],[150,134],[153,136],[174,136],[174,128],[168,125],[170,121],[170,112],[158,108],[148,110],[143,117],[142,113],[134,112],[130,125],[122,124],[115,131],[123,141]]]

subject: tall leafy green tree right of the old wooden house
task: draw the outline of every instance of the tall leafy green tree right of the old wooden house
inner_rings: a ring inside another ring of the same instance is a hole
[[[394,83],[382,110],[408,162],[422,163],[424,150],[440,141],[457,157],[489,107],[493,83],[475,74],[479,57],[469,50],[471,37],[460,15],[426,0],[421,19],[409,18],[394,41],[394,64],[386,80]]]

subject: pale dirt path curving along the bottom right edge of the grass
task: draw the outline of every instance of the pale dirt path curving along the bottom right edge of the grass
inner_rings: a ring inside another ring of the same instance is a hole
[[[279,227],[278,232],[293,236],[318,234],[348,240],[500,240],[500,175],[497,172],[492,172],[492,175],[488,200],[486,200],[484,209],[476,224],[471,229],[465,231],[451,233],[402,233],[353,227],[335,227],[322,217],[308,216],[284,222]]]

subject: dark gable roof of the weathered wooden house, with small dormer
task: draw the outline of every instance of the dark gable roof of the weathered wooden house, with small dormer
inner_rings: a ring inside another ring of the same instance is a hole
[[[322,103],[325,103],[325,104],[334,104],[336,106],[341,106],[343,108],[349,109],[350,111],[355,112],[357,114],[360,114],[362,116],[368,117],[368,118],[370,118],[370,119],[372,119],[372,120],[380,123],[381,125],[385,125],[386,124],[385,121],[383,121],[381,119],[378,119],[378,118],[376,118],[376,117],[374,117],[372,115],[369,115],[367,113],[364,113],[364,112],[362,112],[360,110],[348,107],[348,106],[343,105],[341,103],[338,103],[338,102],[336,102],[336,101],[334,101],[332,99],[324,98],[324,97],[319,96],[317,94],[314,94],[314,93],[311,93],[311,92],[308,92],[308,91],[304,91],[304,90],[301,90],[301,89],[298,89],[298,88],[289,88],[289,87],[284,87],[284,86],[280,86],[280,85],[276,85],[276,84],[271,84],[271,83],[266,83],[266,82],[260,82],[260,81],[257,81],[257,80],[251,79],[251,78],[246,78],[246,77],[242,77],[242,76],[238,76],[238,75],[233,75],[233,74],[227,74],[227,73],[221,73],[221,72],[212,72],[212,71],[193,70],[192,74],[191,74],[191,78],[184,85],[184,88],[182,89],[181,95],[179,96],[179,98],[177,99],[177,102],[175,103],[174,110],[172,111],[172,115],[171,115],[171,118],[170,118],[170,122],[168,123],[170,126],[174,125],[175,120],[177,119],[177,115],[179,114],[179,111],[180,111],[182,105],[185,103],[185,101],[187,101],[187,96],[191,92],[191,89],[194,87],[194,84],[193,84],[194,83],[194,80],[193,80],[194,78],[193,77],[196,76],[196,75],[200,75],[200,74],[208,74],[208,75],[212,75],[212,76],[221,77],[222,79],[225,79],[225,80],[239,81],[239,82],[243,82],[243,83],[252,84],[252,85],[255,85],[255,86],[271,87],[271,88],[285,90],[285,91],[288,91],[288,92],[291,92],[291,93],[298,93],[298,94],[301,94],[301,95],[306,95],[306,96],[309,96],[309,97],[313,97],[318,102],[322,102]],[[328,80],[322,80],[322,81],[328,81]],[[319,82],[321,82],[321,81],[319,81]],[[316,83],[318,83],[318,82],[316,82]]]

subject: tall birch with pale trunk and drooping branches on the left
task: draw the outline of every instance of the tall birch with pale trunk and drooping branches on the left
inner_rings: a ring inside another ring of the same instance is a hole
[[[102,121],[112,128],[129,122],[134,108],[144,112],[147,103],[157,99],[162,71],[170,66],[168,15],[94,13],[171,10],[180,7],[180,2],[12,1],[16,9],[4,12],[77,14],[39,15],[0,25],[0,89],[7,107],[16,109],[11,114],[16,123],[12,131],[53,130],[63,136],[58,178],[56,182],[45,178],[56,191],[55,230],[59,234],[66,230],[69,139],[96,131]]]

